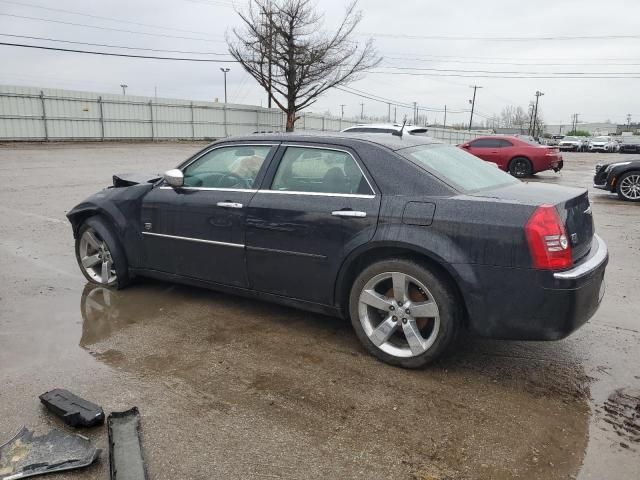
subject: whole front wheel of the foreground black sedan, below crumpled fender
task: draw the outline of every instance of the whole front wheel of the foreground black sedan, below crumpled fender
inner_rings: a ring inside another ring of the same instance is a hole
[[[89,282],[120,289],[129,283],[129,264],[112,228],[99,215],[86,219],[78,229],[76,260]]]

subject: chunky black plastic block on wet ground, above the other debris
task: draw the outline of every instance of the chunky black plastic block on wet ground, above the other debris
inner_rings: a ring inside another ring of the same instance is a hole
[[[102,407],[74,395],[69,390],[56,388],[40,395],[40,401],[50,412],[72,427],[93,427],[104,422]]]

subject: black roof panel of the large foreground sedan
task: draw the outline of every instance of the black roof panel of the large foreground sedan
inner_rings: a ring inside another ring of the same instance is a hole
[[[227,137],[220,140],[223,142],[301,142],[328,145],[341,145],[346,147],[355,147],[364,143],[376,144],[386,147],[390,150],[401,150],[403,148],[414,147],[418,145],[438,145],[444,144],[439,140],[431,137],[403,135],[382,135],[379,133],[349,133],[349,132],[275,132],[275,133],[254,133],[252,135],[242,135],[236,137]]]

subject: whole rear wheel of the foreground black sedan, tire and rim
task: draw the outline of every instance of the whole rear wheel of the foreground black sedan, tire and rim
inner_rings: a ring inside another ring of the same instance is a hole
[[[376,262],[353,283],[351,324],[364,348],[377,359],[420,368],[438,358],[456,338],[462,308],[453,292],[447,281],[412,260]],[[424,315],[419,316],[418,309]]]

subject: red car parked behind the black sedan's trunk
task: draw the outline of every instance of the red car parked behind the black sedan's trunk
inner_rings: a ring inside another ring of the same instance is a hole
[[[518,137],[478,137],[460,145],[469,153],[501,170],[522,178],[545,170],[562,169],[562,155],[556,147],[547,147]]]

